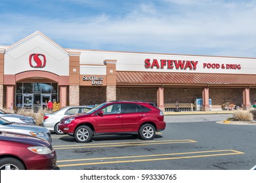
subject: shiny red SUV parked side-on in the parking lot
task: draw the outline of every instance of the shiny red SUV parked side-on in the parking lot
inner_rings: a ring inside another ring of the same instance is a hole
[[[165,129],[165,122],[163,112],[154,103],[110,101],[87,114],[62,118],[59,128],[77,142],[89,142],[93,135],[108,134],[139,134],[142,139],[150,140],[156,131]]]

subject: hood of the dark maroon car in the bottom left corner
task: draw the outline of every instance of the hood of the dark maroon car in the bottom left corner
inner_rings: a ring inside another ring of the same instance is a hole
[[[7,131],[0,131],[1,141],[23,142],[24,144],[31,144],[32,146],[51,146],[51,144],[43,139],[24,135],[22,133],[13,133]]]

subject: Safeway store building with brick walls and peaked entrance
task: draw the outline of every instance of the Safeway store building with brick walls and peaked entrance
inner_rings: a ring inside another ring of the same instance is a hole
[[[247,110],[256,100],[255,73],[256,58],[66,49],[37,31],[0,46],[0,107],[139,100],[167,110],[201,98],[200,110],[226,102]]]

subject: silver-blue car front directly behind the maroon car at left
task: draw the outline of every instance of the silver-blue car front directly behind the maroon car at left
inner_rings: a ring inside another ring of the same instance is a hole
[[[39,137],[51,143],[51,132],[45,127],[28,124],[12,124],[7,120],[0,118],[0,131],[10,131],[14,133],[22,133],[33,137]]]

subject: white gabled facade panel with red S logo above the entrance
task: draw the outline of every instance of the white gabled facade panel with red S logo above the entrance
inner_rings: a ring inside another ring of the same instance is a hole
[[[17,75],[26,71],[70,75],[68,52],[39,32],[8,48],[4,61],[5,75]]]

